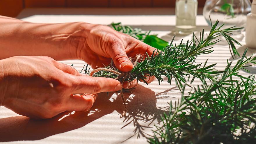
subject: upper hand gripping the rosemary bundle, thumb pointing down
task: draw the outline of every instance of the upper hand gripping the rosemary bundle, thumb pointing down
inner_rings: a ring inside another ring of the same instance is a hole
[[[77,57],[94,69],[107,66],[113,60],[116,68],[122,72],[129,72],[133,68],[133,63],[131,63],[129,57],[135,57],[138,54],[145,56],[146,52],[152,55],[155,50],[155,48],[144,42],[115,31],[109,26],[92,24],[88,26],[86,24],[84,27],[90,30],[87,33],[83,33],[82,37],[84,39],[75,44],[75,49]],[[146,76],[145,81],[151,83],[155,79],[154,76]],[[123,88],[132,88],[136,85],[137,80],[134,79],[130,83],[125,82]]]

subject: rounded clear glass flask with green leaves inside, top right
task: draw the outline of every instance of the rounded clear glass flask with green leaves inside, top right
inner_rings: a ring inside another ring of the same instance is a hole
[[[250,0],[207,0],[203,9],[203,15],[209,25],[211,21],[219,20],[220,25],[225,24],[223,28],[245,27],[246,15],[250,12]],[[235,33],[241,33],[241,29]]]

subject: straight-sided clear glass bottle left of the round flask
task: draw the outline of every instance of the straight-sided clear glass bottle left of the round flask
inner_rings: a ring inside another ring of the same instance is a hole
[[[195,28],[197,15],[197,0],[176,0],[176,32],[179,34],[190,34]]]

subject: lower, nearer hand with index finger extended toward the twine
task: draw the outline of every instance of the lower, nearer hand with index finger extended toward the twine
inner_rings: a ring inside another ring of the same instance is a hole
[[[89,77],[73,67],[42,56],[0,60],[4,87],[2,105],[32,118],[52,118],[64,111],[88,111],[100,92],[117,91],[115,79]],[[84,95],[72,95],[86,93]]]

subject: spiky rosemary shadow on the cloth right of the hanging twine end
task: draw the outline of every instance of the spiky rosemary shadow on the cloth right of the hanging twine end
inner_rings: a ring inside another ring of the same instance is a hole
[[[161,93],[155,94],[154,91],[138,85],[138,87],[133,90],[132,95],[129,95],[129,93],[125,93],[124,96],[125,99],[127,99],[126,102],[128,111],[127,115],[124,117],[125,119],[123,120],[123,122],[125,122],[126,124],[122,128],[128,125],[133,125],[134,135],[132,135],[131,137],[152,137],[151,134],[145,132],[145,129],[152,129],[150,125],[152,123],[159,124],[161,122],[161,115],[163,113],[169,112],[169,106],[157,107],[157,99],[170,99],[171,96],[170,94],[167,95],[167,93],[171,93],[172,90],[178,89],[176,89],[176,87],[172,87]],[[118,112],[122,113],[122,111]],[[127,138],[126,140],[128,140],[129,138]]]

